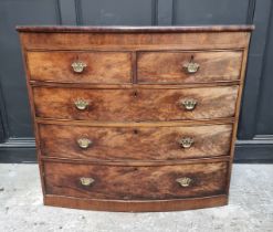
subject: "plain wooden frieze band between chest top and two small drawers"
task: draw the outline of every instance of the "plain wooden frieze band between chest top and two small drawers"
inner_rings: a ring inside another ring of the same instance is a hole
[[[204,50],[242,49],[249,32],[21,33],[27,50]],[[76,42],[75,42],[76,41]]]

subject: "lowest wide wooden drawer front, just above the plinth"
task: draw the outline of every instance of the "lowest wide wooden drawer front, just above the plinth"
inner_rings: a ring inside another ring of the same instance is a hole
[[[44,162],[45,192],[111,200],[167,200],[224,193],[228,162],[98,166]]]

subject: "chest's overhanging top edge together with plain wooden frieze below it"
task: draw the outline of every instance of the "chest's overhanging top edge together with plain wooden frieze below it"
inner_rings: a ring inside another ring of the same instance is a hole
[[[28,49],[242,49],[251,25],[237,27],[19,27]]]

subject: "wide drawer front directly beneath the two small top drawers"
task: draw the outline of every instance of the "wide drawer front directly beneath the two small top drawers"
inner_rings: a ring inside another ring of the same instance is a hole
[[[44,118],[98,122],[180,120],[232,117],[238,86],[187,89],[34,87],[33,93],[35,114]]]

